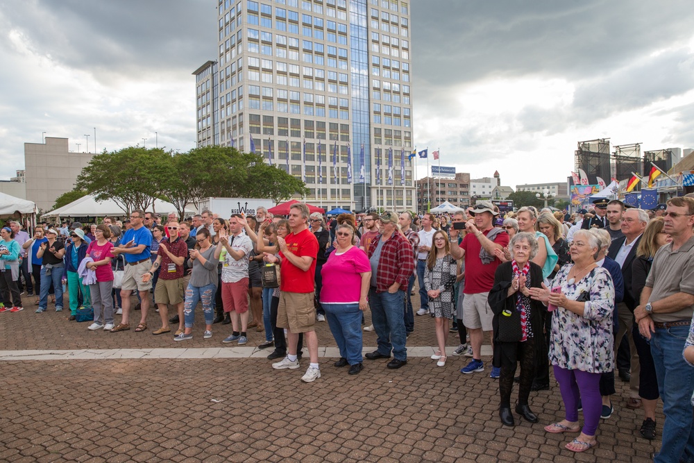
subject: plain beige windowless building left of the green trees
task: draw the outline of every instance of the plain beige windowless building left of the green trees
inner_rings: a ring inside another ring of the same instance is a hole
[[[71,153],[67,138],[46,137],[44,143],[25,143],[25,199],[34,201],[42,212],[51,210],[58,196],[74,189],[77,176],[93,156]]]

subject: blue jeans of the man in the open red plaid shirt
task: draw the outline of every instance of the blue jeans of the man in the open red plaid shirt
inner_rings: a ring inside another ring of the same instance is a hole
[[[407,335],[405,335],[405,294],[399,289],[390,294],[387,291],[377,293],[373,287],[369,289],[369,305],[371,305],[371,322],[378,336],[378,353],[390,355],[398,360],[407,360]]]

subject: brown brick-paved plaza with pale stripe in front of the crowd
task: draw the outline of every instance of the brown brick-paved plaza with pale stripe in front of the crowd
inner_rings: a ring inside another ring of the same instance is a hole
[[[255,347],[263,333],[252,328],[239,347],[221,344],[230,325],[214,325],[203,339],[199,307],[194,339],[174,342],[151,334],[154,311],[145,332],[91,332],[69,312],[35,314],[25,301],[23,312],[0,314],[3,462],[650,462],[660,446],[638,435],[641,411],[625,407],[620,380],[615,412],[586,453],[564,449],[577,435],[543,430],[563,418],[553,380],[530,396],[540,423],[502,427],[491,350],[484,373],[462,375],[467,359],[450,355],[450,333],[437,367],[428,316],[415,318],[405,367],[364,360],[357,376],[332,366],[335,342],[317,323],[322,377],[305,384],[307,355],[298,370],[274,371]],[[139,312],[131,319],[134,328]],[[364,352],[375,339],[364,332]],[[658,437],[662,425],[659,408]]]

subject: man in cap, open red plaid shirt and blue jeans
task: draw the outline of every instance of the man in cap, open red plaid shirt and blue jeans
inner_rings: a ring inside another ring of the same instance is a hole
[[[386,211],[380,216],[381,234],[373,239],[367,255],[371,262],[369,305],[378,348],[366,354],[369,360],[390,358],[387,367],[398,369],[407,363],[405,334],[405,289],[414,272],[412,244],[398,229],[398,215]]]

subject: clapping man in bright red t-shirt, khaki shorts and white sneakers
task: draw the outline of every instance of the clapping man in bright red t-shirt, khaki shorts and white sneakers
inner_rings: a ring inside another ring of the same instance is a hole
[[[316,308],[314,306],[314,273],[318,255],[318,239],[308,228],[309,210],[304,203],[291,205],[289,228],[284,239],[278,237],[279,258],[265,253],[267,262],[280,262],[280,305],[277,309],[277,327],[287,328],[287,357],[273,363],[277,370],[297,369],[296,344],[299,333],[304,333],[311,363],[304,382],[321,377],[318,365],[318,337],[314,330]]]

